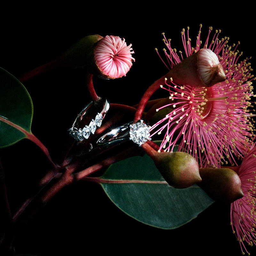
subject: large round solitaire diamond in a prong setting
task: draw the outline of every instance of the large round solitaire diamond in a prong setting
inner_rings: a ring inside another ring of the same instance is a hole
[[[134,143],[142,145],[143,143],[147,142],[148,140],[151,140],[149,138],[150,126],[143,123],[143,120],[139,120],[135,124],[130,125],[130,140],[132,140]]]

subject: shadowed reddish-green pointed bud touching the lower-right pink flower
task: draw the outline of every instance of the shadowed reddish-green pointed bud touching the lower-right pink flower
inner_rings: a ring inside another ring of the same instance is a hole
[[[199,168],[202,181],[198,186],[213,200],[231,204],[244,196],[241,180],[229,168]]]

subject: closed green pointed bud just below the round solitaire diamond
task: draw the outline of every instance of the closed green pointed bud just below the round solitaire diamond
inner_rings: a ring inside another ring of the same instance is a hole
[[[174,188],[188,188],[201,181],[196,159],[185,152],[161,152],[154,163],[168,184]]]

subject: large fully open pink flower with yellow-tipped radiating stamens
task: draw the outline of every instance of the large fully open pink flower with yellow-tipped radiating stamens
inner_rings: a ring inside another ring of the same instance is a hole
[[[237,45],[228,46],[228,39],[218,39],[219,31],[210,41],[209,30],[204,45],[200,41],[200,31],[196,40],[196,47],[191,47],[185,33],[182,41],[186,57],[201,49],[208,49],[207,53],[215,54],[215,64],[223,67],[226,79],[210,87],[198,87],[187,84],[174,84],[172,78],[162,88],[170,93],[170,102],[162,108],[170,108],[169,113],[156,124],[151,125],[151,137],[164,133],[160,149],[172,151],[178,144],[178,151],[186,151],[196,159],[201,167],[220,167],[224,163],[236,163],[236,157],[243,155],[245,148],[251,143],[252,114],[251,106],[252,76],[251,67],[247,60],[238,62],[240,54]],[[173,68],[183,59],[170,45],[170,40],[164,42],[170,51],[167,57],[168,68]],[[168,43],[167,43],[168,42]],[[210,42],[210,43],[209,43]],[[208,64],[210,67],[211,63]]]

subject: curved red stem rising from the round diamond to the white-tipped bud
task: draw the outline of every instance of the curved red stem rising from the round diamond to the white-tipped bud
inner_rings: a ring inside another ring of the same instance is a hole
[[[153,95],[153,93],[156,92],[156,90],[160,88],[160,85],[164,84],[164,81],[165,81],[165,76],[162,76],[161,78],[156,80],[153,84],[151,84],[148,87],[148,89],[146,90],[146,92],[144,93],[144,95],[142,96],[142,98],[139,102],[137,111],[134,115],[133,123],[136,123],[138,120],[141,119],[142,113],[144,111],[144,108],[147,105],[148,100]]]

